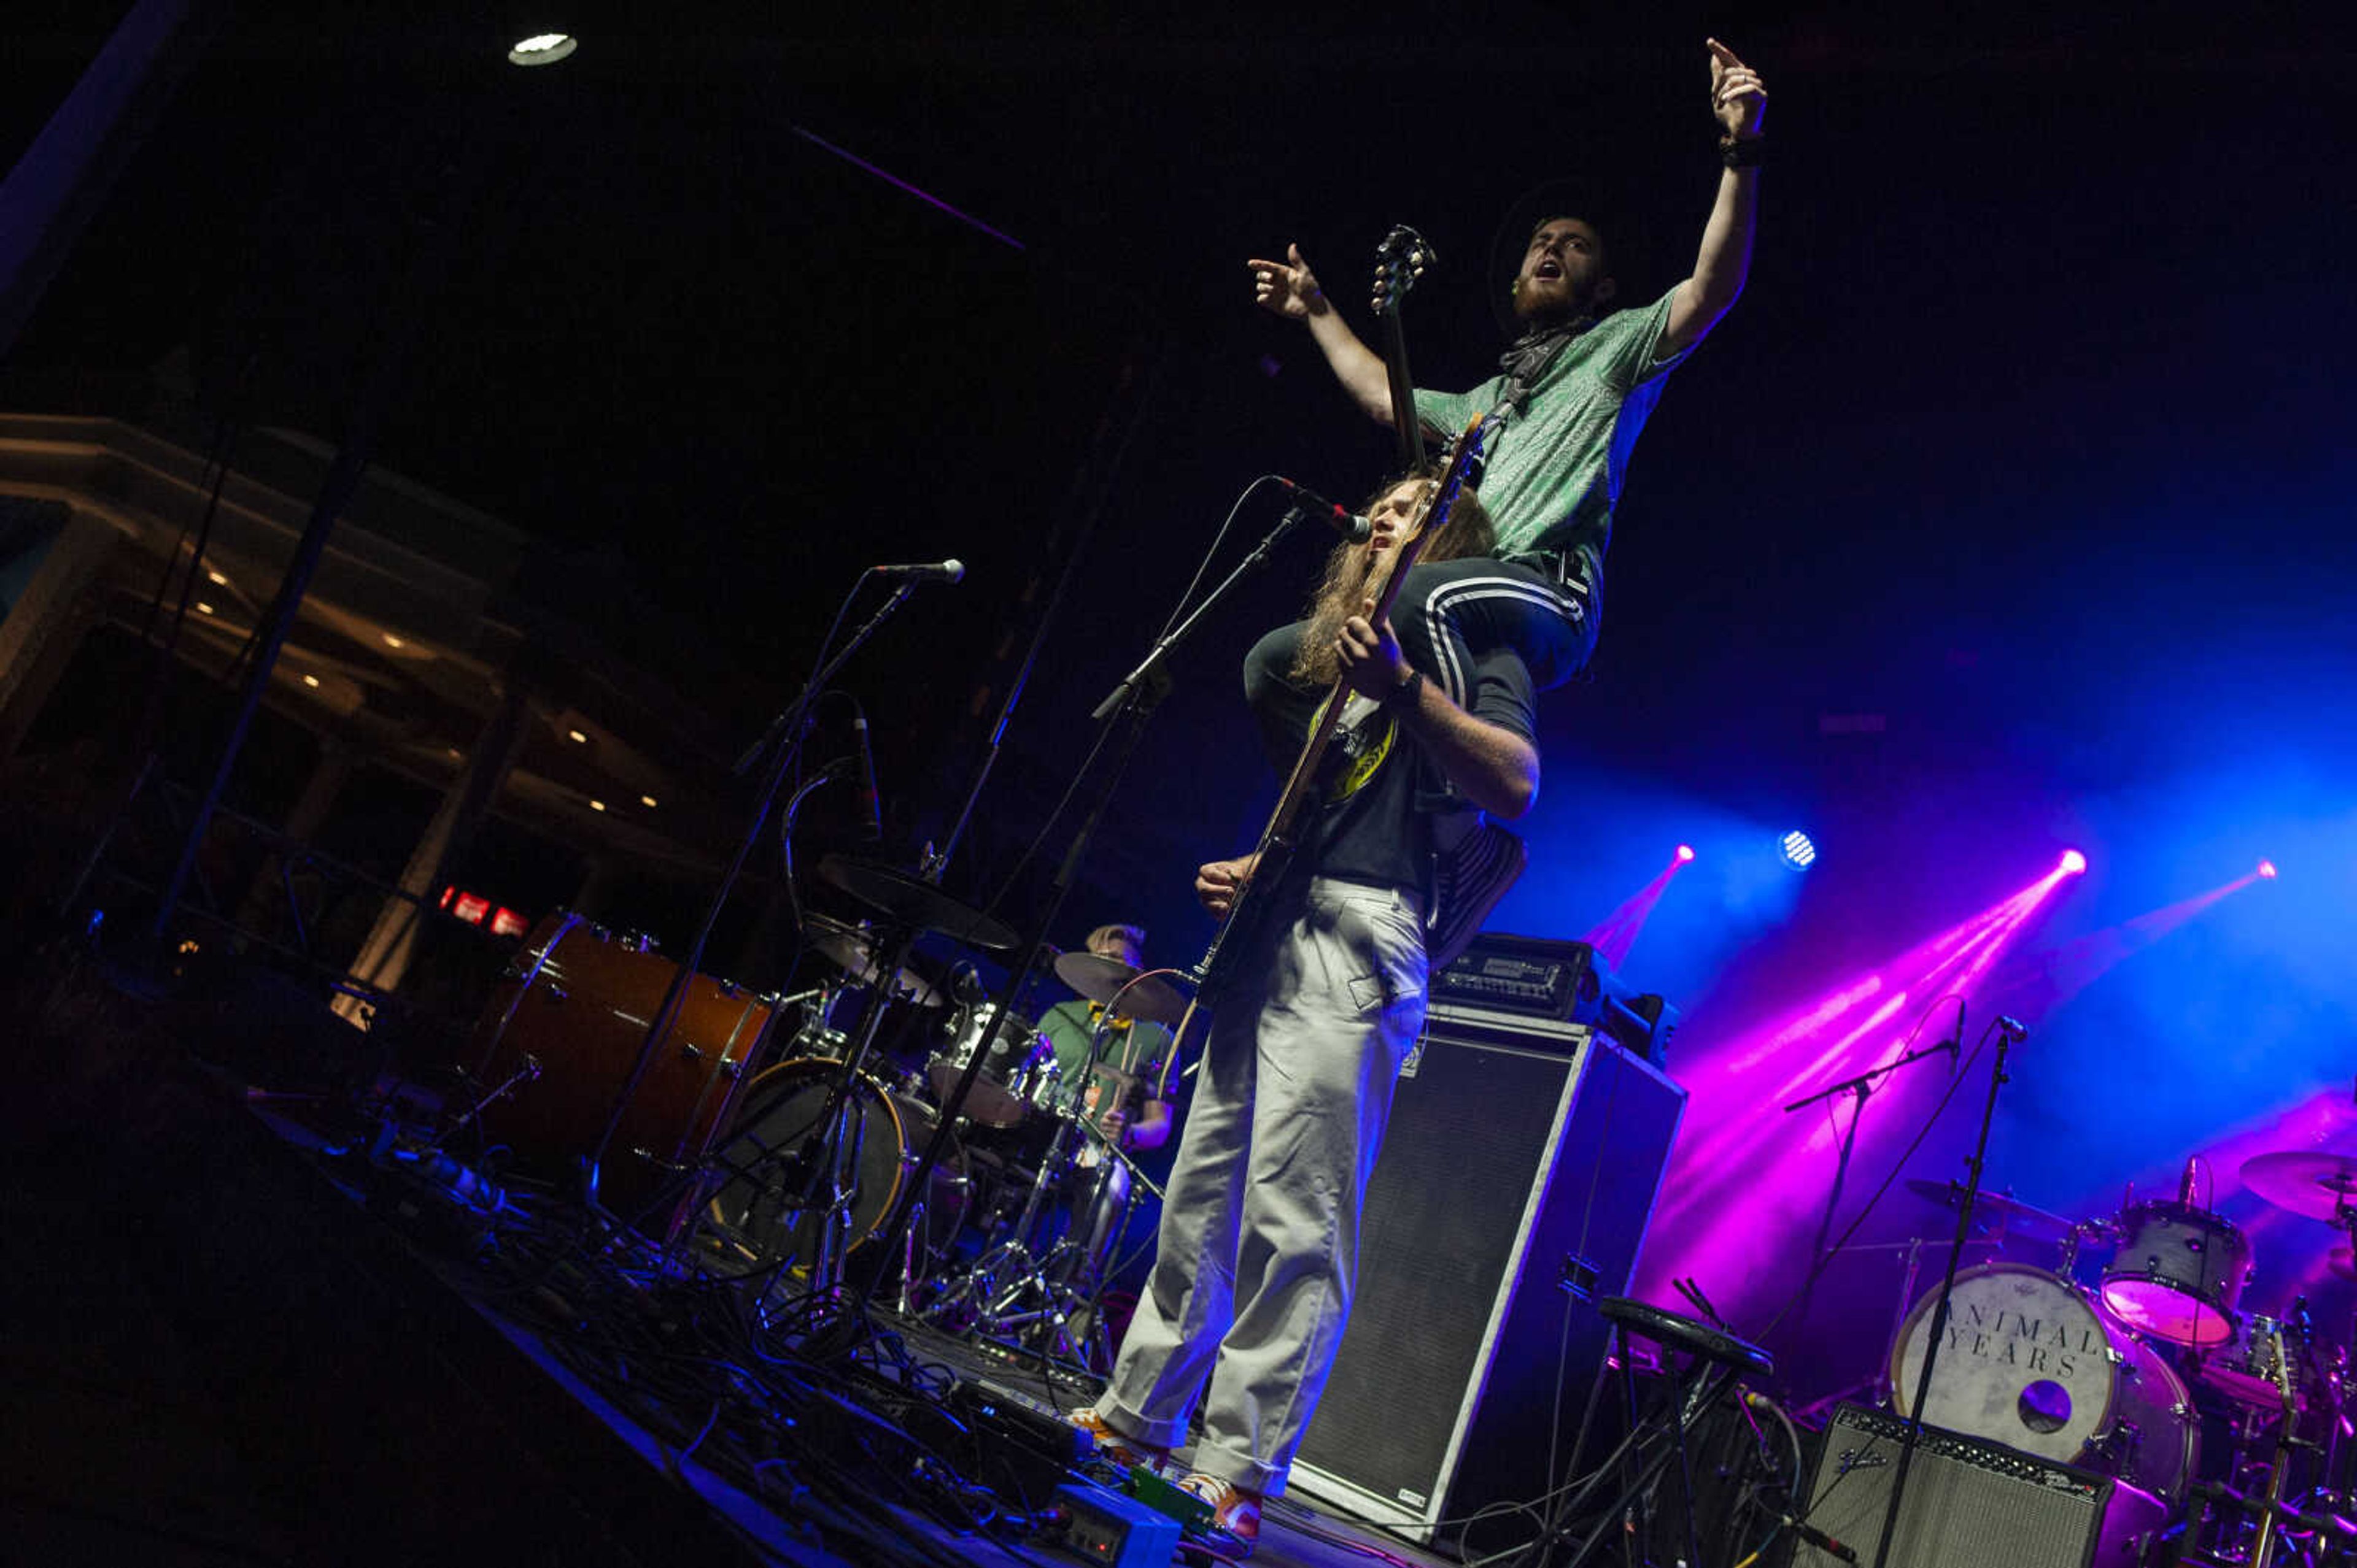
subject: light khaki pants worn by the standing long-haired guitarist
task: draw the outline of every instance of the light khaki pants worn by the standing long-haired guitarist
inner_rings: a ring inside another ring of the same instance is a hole
[[[1412,892],[1315,878],[1270,930],[1211,1022],[1155,1267],[1096,1406],[1171,1448],[1209,1380],[1195,1469],[1259,1493],[1285,1490],[1341,1347],[1358,1210],[1426,1001]]]

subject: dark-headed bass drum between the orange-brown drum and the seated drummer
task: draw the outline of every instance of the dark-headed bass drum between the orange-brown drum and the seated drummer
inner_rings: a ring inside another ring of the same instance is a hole
[[[804,1220],[804,1196],[825,1194],[827,1092],[844,1071],[841,1062],[780,1062],[745,1092],[745,1111],[717,1149],[717,1163],[728,1172],[712,1196],[712,1220],[728,1248],[745,1264],[792,1260],[808,1269],[818,1257],[818,1210]],[[867,1074],[851,1090],[851,1135],[858,1140],[853,1163],[849,1276],[865,1283],[863,1269],[874,1267],[870,1253],[884,1220],[900,1201],[900,1187],[917,1165],[938,1125],[931,1107],[896,1095]],[[950,1137],[933,1177],[926,1182],[924,1210],[915,1222],[917,1278],[933,1274],[957,1243],[966,1220],[966,1151]],[[898,1278],[898,1260],[886,1278]]]

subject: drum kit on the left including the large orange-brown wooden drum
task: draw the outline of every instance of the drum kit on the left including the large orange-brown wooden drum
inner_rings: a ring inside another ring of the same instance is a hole
[[[1002,951],[1016,942],[1004,925],[870,862],[827,859],[820,876],[872,918],[808,913],[806,946],[834,972],[792,996],[686,977],[618,1114],[601,1203],[698,1267],[771,1271],[780,1297],[882,1278],[907,1314],[1103,1363],[1108,1257],[1082,1231],[1105,1215],[1094,1229],[1117,1236],[1157,1189],[1096,1118],[1122,1090],[1134,1114],[1150,1085],[1103,1064],[1103,1024],[1089,1071],[1068,1083],[1037,1019],[1002,1019],[971,965],[952,979],[912,968],[919,935]],[[1105,1019],[1176,1026],[1186,1010],[1169,984],[1115,958],[1058,954],[1054,972],[1105,1003]],[[563,1182],[592,1156],[674,984],[679,965],[648,939],[544,918],[478,1017],[460,1128],[502,1149],[504,1170]],[[879,1257],[900,1208],[907,1224]],[[1065,1217],[1070,1234],[1056,1234]]]

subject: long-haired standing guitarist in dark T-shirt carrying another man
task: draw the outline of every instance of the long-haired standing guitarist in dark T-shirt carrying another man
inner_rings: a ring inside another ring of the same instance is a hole
[[[1461,803],[1520,817],[1539,793],[1523,659],[1478,655],[1459,704],[1435,683],[1428,629],[1374,617],[1372,574],[1433,487],[1412,476],[1379,492],[1374,537],[1336,546],[1308,617],[1244,659],[1244,697],[1280,770],[1336,680],[1351,690],[1348,727],[1282,871],[1263,878],[1237,857],[1195,873],[1216,916],[1252,873],[1252,909],[1230,935],[1146,1295],[1105,1396],[1072,1417],[1117,1462],[1160,1467],[1202,1394],[1181,1486],[1211,1504],[1230,1549],[1259,1537],[1261,1500],[1285,1488],[1341,1347],[1360,1203],[1424,1029],[1438,824]],[[1490,523],[1464,494],[1424,553],[1485,549]]]

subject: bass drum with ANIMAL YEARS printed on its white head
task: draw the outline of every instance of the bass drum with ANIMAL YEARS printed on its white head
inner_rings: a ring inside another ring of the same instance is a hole
[[[1900,1415],[1914,1413],[1937,1304],[1933,1288],[1890,1347]],[[2119,1476],[2164,1502],[2183,1500],[2201,1443],[2168,1363],[2067,1281],[2025,1264],[1956,1276],[1923,1420]]]

